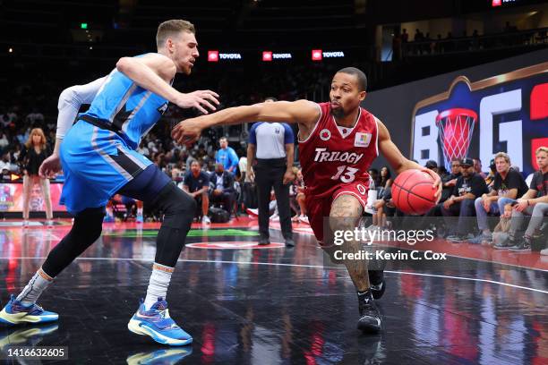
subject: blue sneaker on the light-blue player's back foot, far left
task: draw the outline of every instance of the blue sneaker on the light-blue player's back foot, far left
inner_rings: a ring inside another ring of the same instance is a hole
[[[15,299],[12,294],[10,301],[0,311],[0,323],[7,325],[19,325],[21,323],[46,323],[59,319],[54,312],[43,310],[38,304],[31,304],[26,307],[21,301]]]

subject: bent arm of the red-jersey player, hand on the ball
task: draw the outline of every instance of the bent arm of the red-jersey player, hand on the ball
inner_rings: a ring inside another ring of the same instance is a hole
[[[382,155],[386,158],[386,160],[389,162],[390,166],[396,171],[397,174],[400,174],[406,170],[415,168],[421,171],[424,171],[427,174],[430,174],[432,178],[434,179],[433,187],[436,188],[438,191],[436,192],[435,197],[439,198],[441,197],[441,178],[439,174],[436,174],[434,171],[424,168],[423,166],[420,166],[416,162],[411,161],[410,159],[404,157],[401,154],[401,151],[398,149],[398,147],[394,144],[392,139],[390,138],[390,132],[386,128],[386,126],[381,123],[381,121],[378,121],[379,125],[379,149],[382,153]]]

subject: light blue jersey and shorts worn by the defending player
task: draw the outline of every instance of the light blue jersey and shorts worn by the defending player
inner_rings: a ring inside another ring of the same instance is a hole
[[[137,86],[122,72],[110,72],[90,109],[78,115],[61,144],[61,203],[73,213],[104,207],[116,191],[152,165],[135,149],[166,109],[166,99]],[[147,186],[167,182],[159,179]]]

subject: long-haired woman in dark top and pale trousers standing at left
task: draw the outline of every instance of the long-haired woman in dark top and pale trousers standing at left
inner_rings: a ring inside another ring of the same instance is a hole
[[[23,225],[29,225],[30,195],[32,186],[38,183],[46,204],[47,225],[52,225],[53,210],[51,207],[51,194],[49,180],[39,176],[39,166],[50,155],[47,149],[47,140],[40,128],[34,128],[30,132],[29,140],[25,143],[25,149],[19,156],[21,170],[23,172]]]

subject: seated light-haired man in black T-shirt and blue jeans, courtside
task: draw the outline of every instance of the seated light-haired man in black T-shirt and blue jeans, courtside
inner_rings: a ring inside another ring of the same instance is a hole
[[[492,183],[492,191],[475,199],[475,215],[480,233],[470,240],[471,243],[491,242],[492,234],[487,223],[487,214],[500,215],[504,211],[504,205],[515,201],[527,191],[523,176],[510,168],[507,153],[497,153],[494,161],[497,173]]]

